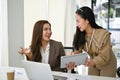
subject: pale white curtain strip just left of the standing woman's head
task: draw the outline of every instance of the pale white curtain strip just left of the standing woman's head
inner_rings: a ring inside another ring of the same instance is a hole
[[[76,11],[76,0],[68,0],[66,2],[65,11],[65,35],[64,35],[64,46],[71,47],[73,42],[73,35],[76,30],[75,24],[75,11]]]

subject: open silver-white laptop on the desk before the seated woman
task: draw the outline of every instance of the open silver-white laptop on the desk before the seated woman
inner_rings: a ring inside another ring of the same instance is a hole
[[[56,76],[52,74],[49,64],[22,61],[23,67],[27,73],[29,80],[66,80],[67,77]]]

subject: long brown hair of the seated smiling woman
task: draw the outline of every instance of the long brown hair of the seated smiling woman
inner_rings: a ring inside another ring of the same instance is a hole
[[[34,25],[30,48],[33,55],[32,60],[36,62],[41,62],[42,60],[40,47],[42,46],[43,26],[46,23],[51,27],[51,24],[46,20],[37,21]]]

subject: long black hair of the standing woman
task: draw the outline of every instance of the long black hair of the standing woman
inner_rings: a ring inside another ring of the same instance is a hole
[[[95,16],[91,8],[87,6],[81,7],[80,9],[77,9],[76,14],[81,16],[83,19],[88,20],[92,28],[102,28],[101,26],[96,24]],[[76,50],[79,50],[79,48],[84,47],[84,44],[86,43],[85,35],[85,31],[81,32],[80,29],[76,27],[76,33],[73,40],[73,47]]]

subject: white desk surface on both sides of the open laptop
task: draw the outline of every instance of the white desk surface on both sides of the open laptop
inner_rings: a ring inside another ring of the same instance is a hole
[[[15,70],[15,80],[29,80],[27,78],[24,68],[13,68],[13,67],[0,67],[0,80],[7,80],[6,71],[7,69]],[[111,78],[111,77],[98,77],[98,76],[88,76],[88,75],[79,75],[71,73],[63,73],[52,71],[53,75],[67,77],[67,80],[120,80],[120,78]],[[61,80],[61,79],[60,79]]]

